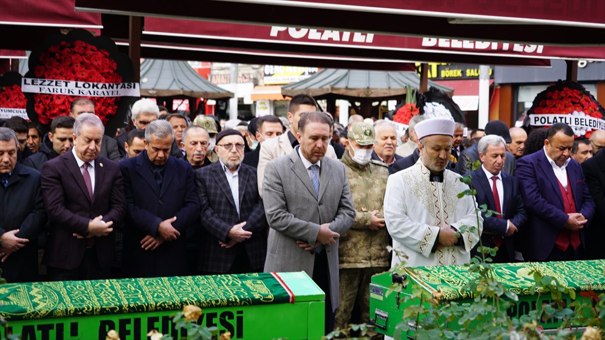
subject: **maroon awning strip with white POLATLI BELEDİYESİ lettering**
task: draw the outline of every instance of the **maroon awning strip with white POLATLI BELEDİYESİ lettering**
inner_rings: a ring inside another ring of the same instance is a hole
[[[553,47],[151,17],[145,18],[143,40],[356,56],[375,56],[379,51],[384,57],[491,65],[548,66],[548,59],[561,58],[605,60],[605,46]]]

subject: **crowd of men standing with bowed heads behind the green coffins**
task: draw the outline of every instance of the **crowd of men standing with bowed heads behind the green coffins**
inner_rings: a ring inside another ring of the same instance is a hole
[[[355,306],[368,319],[371,276],[402,261],[389,245],[407,266],[468,263],[479,241],[500,263],[605,258],[604,131],[495,120],[465,138],[415,116],[398,141],[390,122],[339,126],[306,95],[287,125],[162,109],[138,100],[116,139],[88,99],[46,134],[18,117],[0,128],[8,282],[40,280],[40,253],[54,281],[304,270],[326,293],[327,333]],[[458,197],[468,174],[476,202]],[[477,218],[482,204],[495,214]]]

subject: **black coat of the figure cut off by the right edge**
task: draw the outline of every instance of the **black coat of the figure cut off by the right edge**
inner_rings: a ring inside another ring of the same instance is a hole
[[[605,149],[581,164],[586,186],[595,202],[595,217],[586,229],[586,250],[589,260],[605,259]]]

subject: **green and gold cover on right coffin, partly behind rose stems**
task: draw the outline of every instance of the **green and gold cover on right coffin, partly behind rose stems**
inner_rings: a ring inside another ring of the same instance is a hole
[[[518,295],[529,295],[534,284],[533,275],[537,269],[543,275],[553,276],[569,289],[605,290],[605,260],[561,261],[561,262],[525,262],[492,264],[494,275],[507,289]],[[405,269],[417,284],[434,293],[443,293],[448,301],[474,298],[473,293],[464,287],[473,277],[465,266],[409,267]]]

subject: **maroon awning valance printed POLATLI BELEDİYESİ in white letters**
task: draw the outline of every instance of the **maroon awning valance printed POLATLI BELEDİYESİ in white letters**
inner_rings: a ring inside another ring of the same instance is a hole
[[[417,38],[351,31],[320,30],[281,26],[224,24],[183,19],[145,18],[143,34],[185,38],[219,39],[286,45],[347,47],[365,50],[439,53],[510,57],[510,65],[548,66],[548,59],[605,60],[605,47],[553,47],[506,42],[468,41],[460,39]],[[434,58],[434,56],[433,56]]]

